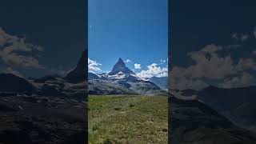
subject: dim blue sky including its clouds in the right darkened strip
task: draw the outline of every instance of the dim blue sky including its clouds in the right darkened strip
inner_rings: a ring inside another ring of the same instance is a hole
[[[256,2],[170,1],[171,86],[256,85]]]

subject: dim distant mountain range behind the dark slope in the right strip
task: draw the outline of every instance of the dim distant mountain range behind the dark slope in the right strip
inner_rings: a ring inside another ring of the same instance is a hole
[[[256,132],[256,86],[224,89],[215,86],[203,90],[182,90],[178,98],[197,98],[230,121]],[[177,94],[177,95],[178,95]]]

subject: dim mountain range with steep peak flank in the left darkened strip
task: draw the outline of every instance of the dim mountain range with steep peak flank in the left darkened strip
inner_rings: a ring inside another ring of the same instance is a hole
[[[1,94],[26,94],[44,96],[76,96],[84,98],[87,78],[86,51],[78,65],[66,77],[58,74],[42,78],[20,78],[14,74],[0,74]]]

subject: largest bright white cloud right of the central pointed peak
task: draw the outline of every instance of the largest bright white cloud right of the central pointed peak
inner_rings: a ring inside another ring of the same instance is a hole
[[[152,77],[166,77],[168,75],[168,68],[161,68],[156,63],[152,63],[150,66],[147,66],[147,70],[142,70],[138,74],[139,78],[148,79]]]

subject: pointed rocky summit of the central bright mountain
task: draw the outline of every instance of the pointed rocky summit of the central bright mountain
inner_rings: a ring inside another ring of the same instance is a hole
[[[123,62],[122,58],[118,59],[118,62],[114,65],[113,69],[110,71],[110,75],[118,74],[122,72],[124,74],[134,74],[132,70],[126,67],[126,63]]]

